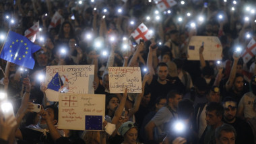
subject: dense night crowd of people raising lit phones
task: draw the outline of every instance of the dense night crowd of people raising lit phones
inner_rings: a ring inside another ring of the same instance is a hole
[[[0,143],[256,143],[255,48],[247,63],[242,55],[256,41],[255,1],[176,2],[160,11],[152,0],[0,1],[1,44],[8,30],[24,35],[39,22],[41,46],[25,77],[1,59],[15,114],[0,110]],[[135,42],[142,22],[154,36]],[[199,61],[188,61],[192,36],[217,36],[222,59],[205,61],[202,44]],[[94,94],[106,96],[102,131],[58,129],[58,102],[38,80],[48,65],[95,66]],[[108,67],[140,67],[142,93],[110,94]]]

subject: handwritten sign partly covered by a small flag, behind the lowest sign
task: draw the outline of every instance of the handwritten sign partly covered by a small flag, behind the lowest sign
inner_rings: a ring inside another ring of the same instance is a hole
[[[59,73],[61,89],[71,94],[94,94],[92,87],[94,81],[94,65],[55,65],[46,66],[46,84]],[[58,102],[59,92],[46,90],[46,97],[49,101]]]

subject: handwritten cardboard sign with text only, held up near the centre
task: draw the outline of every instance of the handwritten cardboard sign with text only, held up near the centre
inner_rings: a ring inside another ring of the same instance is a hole
[[[141,71],[139,67],[108,67],[110,93],[141,93]]]

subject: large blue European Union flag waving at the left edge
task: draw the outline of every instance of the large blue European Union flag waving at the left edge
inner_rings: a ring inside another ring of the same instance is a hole
[[[25,36],[9,31],[0,58],[28,69],[34,68],[33,53],[40,49]]]

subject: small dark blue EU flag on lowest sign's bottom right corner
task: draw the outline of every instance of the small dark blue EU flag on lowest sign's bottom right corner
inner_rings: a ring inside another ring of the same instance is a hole
[[[102,130],[102,116],[86,116],[86,130]]]

